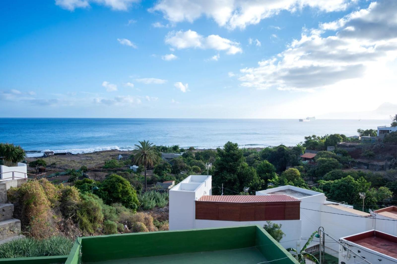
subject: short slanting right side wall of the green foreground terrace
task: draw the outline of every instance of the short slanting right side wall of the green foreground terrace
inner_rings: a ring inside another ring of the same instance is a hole
[[[286,251],[268,232],[262,227],[256,226],[256,239],[255,243],[257,249],[268,260],[281,260],[273,261],[272,264],[299,264],[288,251]],[[287,258],[285,258],[287,257]]]

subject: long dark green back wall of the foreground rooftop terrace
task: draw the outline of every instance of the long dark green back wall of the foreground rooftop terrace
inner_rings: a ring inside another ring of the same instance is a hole
[[[81,245],[83,262],[95,262],[252,247],[255,235],[256,226],[205,228],[84,237]]]

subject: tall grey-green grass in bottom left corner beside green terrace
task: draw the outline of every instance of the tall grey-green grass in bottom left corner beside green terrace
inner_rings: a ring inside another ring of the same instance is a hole
[[[53,236],[46,239],[20,238],[0,245],[0,258],[68,255],[73,241],[66,237]]]

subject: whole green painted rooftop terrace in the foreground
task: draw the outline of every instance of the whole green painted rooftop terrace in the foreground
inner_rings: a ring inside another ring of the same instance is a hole
[[[298,264],[262,227],[240,226],[81,237],[68,256],[0,259],[0,264],[258,264],[269,261]]]

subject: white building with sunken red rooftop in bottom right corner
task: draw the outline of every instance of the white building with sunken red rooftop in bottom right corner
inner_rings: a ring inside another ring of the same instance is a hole
[[[372,264],[397,262],[397,237],[377,230],[369,230],[339,239],[339,263],[362,262],[351,251],[358,253]],[[367,263],[368,263],[367,262]],[[366,262],[363,262],[366,263]]]

